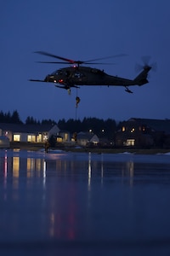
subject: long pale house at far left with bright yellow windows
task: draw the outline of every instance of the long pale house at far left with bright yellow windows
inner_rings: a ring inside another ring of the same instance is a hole
[[[0,136],[9,142],[44,143],[59,132],[57,125],[22,125],[0,123]]]

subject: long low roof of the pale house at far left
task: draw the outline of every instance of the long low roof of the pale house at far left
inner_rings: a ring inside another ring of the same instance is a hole
[[[0,129],[3,131],[13,131],[13,132],[42,132],[42,131],[50,131],[54,125],[23,125],[23,124],[6,124],[0,123]]]

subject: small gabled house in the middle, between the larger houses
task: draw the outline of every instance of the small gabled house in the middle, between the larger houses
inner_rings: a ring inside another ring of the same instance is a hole
[[[97,145],[99,143],[99,137],[93,132],[79,132],[77,133],[77,144],[80,146]]]

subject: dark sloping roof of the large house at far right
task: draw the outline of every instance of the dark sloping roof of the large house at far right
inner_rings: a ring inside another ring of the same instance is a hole
[[[139,119],[132,118],[128,119],[129,122],[136,121],[141,125],[147,125],[155,131],[164,131],[170,134],[170,119]]]

